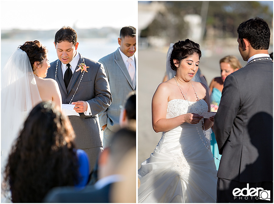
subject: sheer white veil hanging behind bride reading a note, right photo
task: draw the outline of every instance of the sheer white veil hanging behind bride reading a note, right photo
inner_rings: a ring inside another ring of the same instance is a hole
[[[168,51],[167,51],[167,62],[166,62],[167,79],[173,78],[176,74],[176,71],[171,69],[171,66],[170,66],[170,56],[171,56],[171,53],[172,53],[172,50],[173,50],[173,45],[174,45],[174,43],[170,43],[170,46],[169,46]],[[206,79],[202,75],[200,69],[198,69],[197,73],[192,78],[192,81],[197,81],[197,82],[200,82],[200,83],[203,83],[204,85],[206,85],[209,96],[210,96],[210,104],[214,104],[213,95],[211,94],[211,90],[210,90],[209,86],[207,85]],[[206,130],[206,138],[208,140],[211,140],[211,133],[212,133],[211,128]]]

